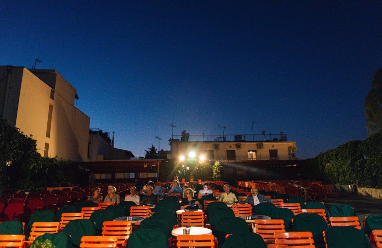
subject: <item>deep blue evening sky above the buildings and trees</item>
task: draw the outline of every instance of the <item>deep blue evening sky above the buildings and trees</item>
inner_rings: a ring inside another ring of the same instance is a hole
[[[367,137],[382,1],[0,1],[0,64],[56,69],[115,146],[284,131],[300,158]]]

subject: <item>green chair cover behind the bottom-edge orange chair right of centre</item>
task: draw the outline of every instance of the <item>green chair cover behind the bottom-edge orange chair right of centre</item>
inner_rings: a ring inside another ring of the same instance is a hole
[[[313,234],[314,245],[316,247],[325,247],[323,231],[328,229],[328,224],[318,214],[305,213],[297,214],[293,220],[294,232],[311,232]]]

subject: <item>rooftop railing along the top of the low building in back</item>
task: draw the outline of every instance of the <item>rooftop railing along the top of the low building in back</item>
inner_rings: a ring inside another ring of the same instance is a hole
[[[187,134],[186,135],[172,135],[172,141],[186,141],[186,142],[245,142],[245,141],[287,141],[286,134]],[[171,141],[170,140],[170,141]]]

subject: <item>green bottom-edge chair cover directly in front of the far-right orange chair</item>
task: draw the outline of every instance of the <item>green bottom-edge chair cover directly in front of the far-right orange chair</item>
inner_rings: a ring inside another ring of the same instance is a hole
[[[365,233],[354,227],[331,227],[325,240],[328,248],[371,248]]]

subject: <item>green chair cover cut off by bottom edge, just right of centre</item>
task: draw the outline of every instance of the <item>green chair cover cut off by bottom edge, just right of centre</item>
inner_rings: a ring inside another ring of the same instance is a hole
[[[267,248],[263,238],[257,233],[232,234],[224,241],[223,248]]]

